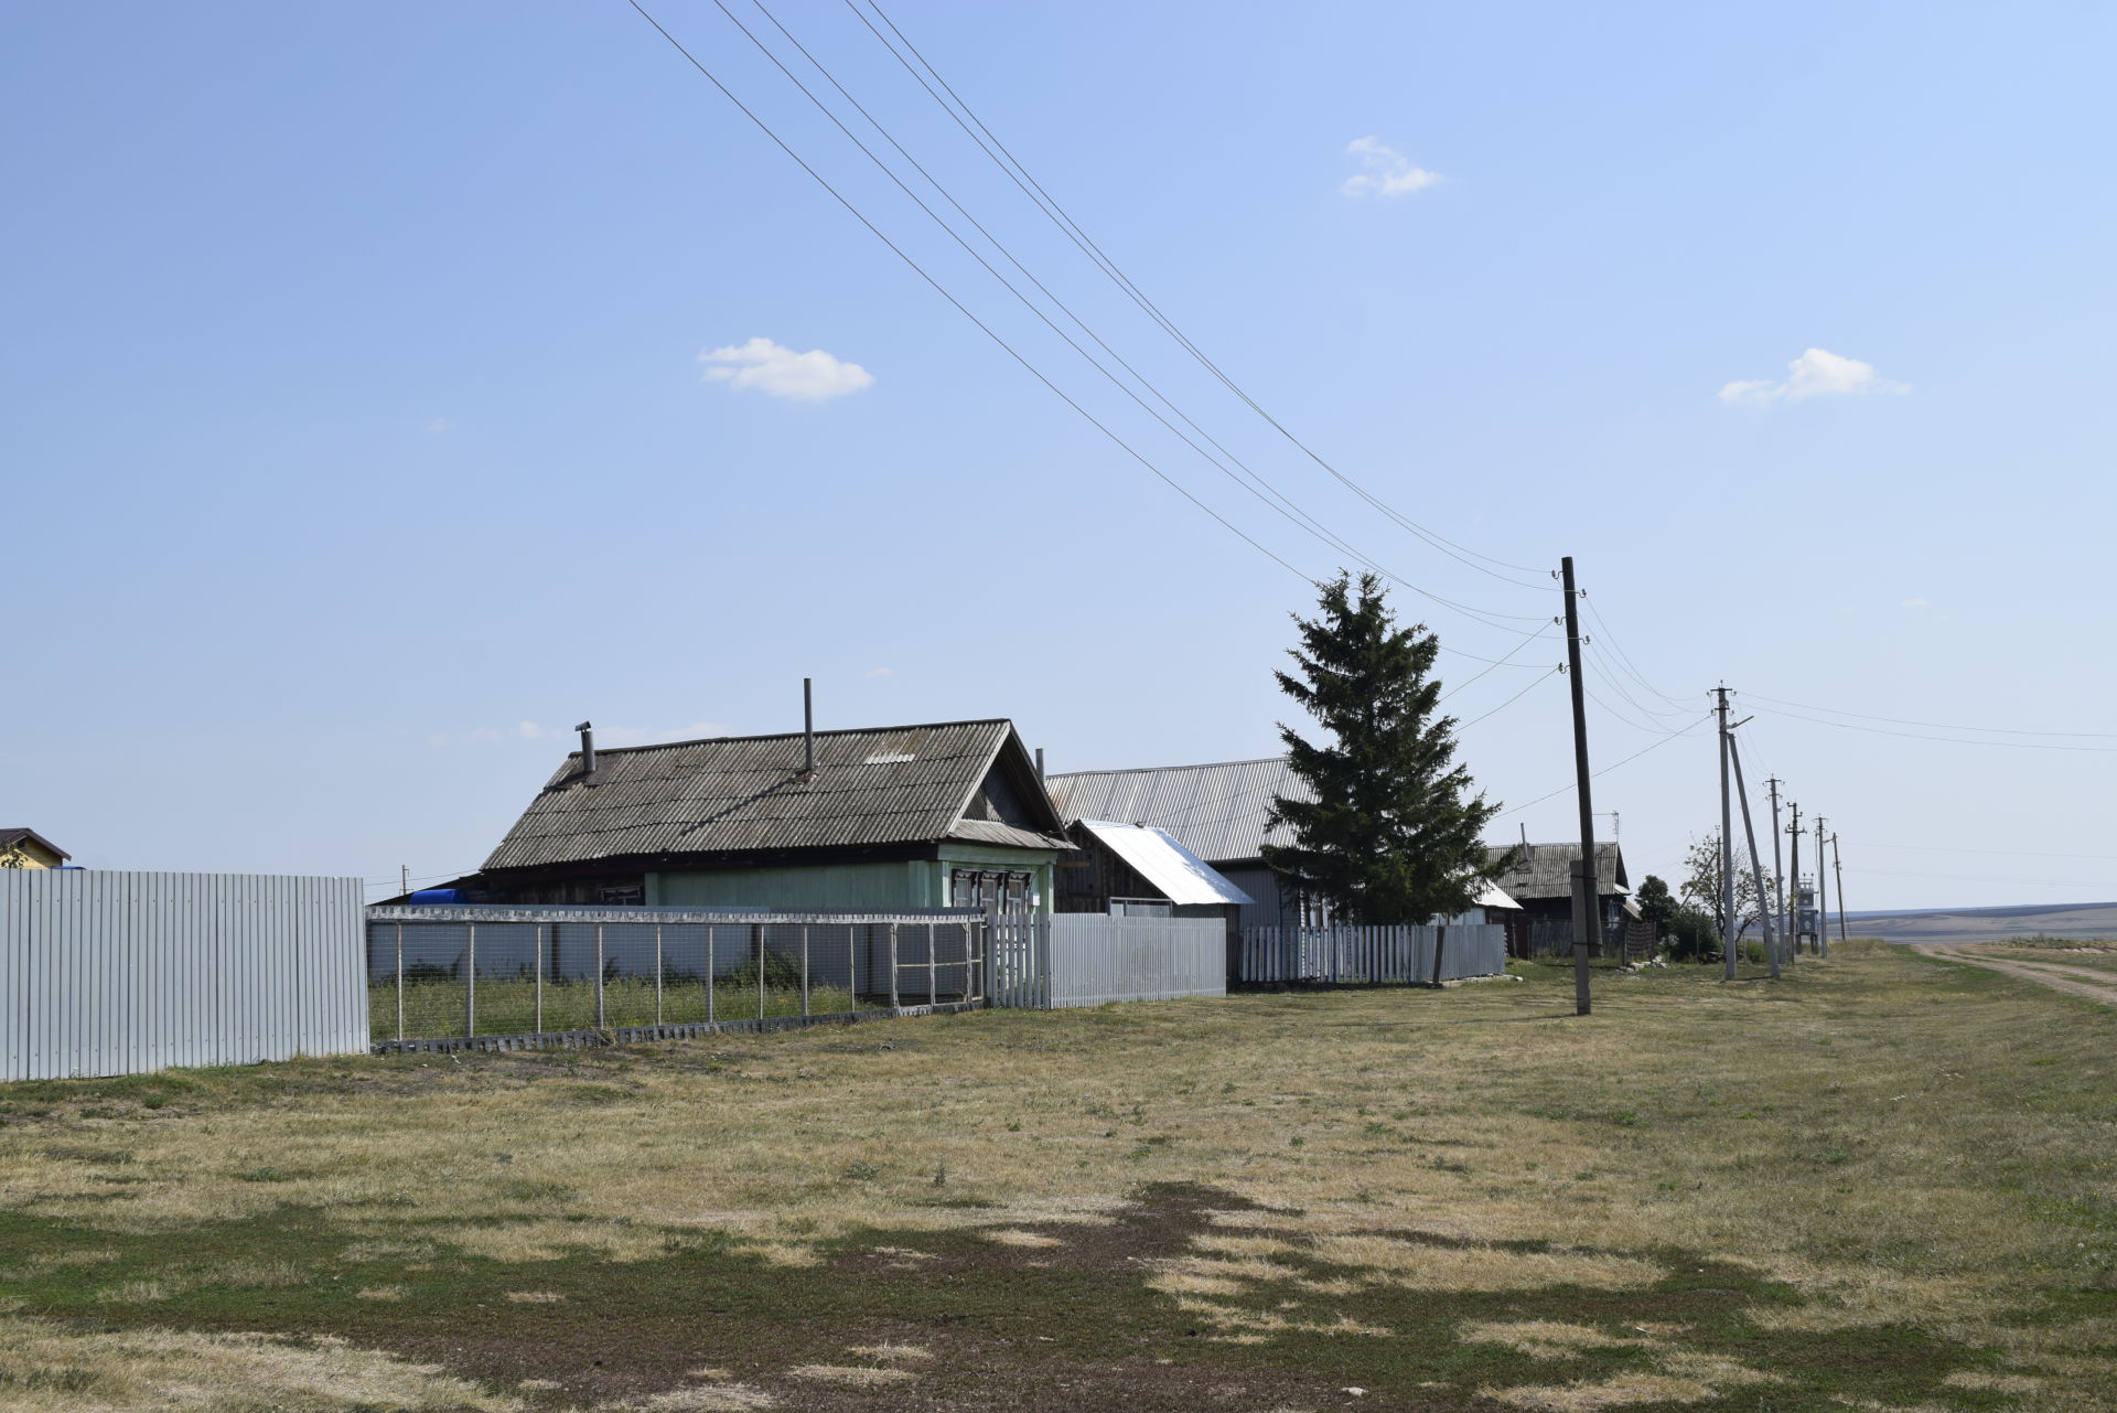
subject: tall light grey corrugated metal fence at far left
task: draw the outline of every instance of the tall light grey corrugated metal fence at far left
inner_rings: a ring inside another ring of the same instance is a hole
[[[368,1044],[360,879],[0,869],[0,1080]]]

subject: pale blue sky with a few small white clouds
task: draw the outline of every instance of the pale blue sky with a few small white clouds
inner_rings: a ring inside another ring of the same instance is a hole
[[[572,722],[796,729],[802,676],[826,727],[1012,716],[1052,769],[1274,750],[1287,614],[1344,553],[1126,400],[709,0],[650,8],[1300,574],[622,0],[15,6],[0,824],[89,866],[440,875]],[[1596,782],[1634,879],[1717,822],[1711,733],[1666,733],[1725,680],[1854,905],[2117,898],[2117,737],[1780,705],[2117,729],[2113,11],[889,6],[1234,381],[1528,566],[1503,578],[1219,388],[847,4],[773,13],[1213,439],[1478,608],[1397,591],[1446,646],[1503,657],[1575,555],[1596,765],[1653,748]],[[1571,794],[1516,809],[1571,777],[1560,655],[1450,699],[1492,712],[1463,756],[1495,835],[1573,833]]]

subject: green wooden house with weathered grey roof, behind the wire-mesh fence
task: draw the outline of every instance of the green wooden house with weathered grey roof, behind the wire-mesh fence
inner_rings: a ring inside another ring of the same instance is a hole
[[[1008,720],[569,752],[485,869],[487,902],[1052,911],[1073,843]]]

